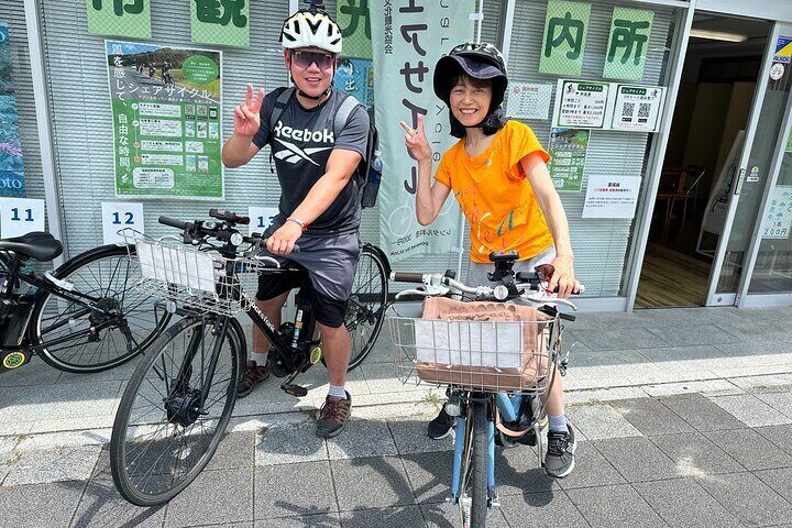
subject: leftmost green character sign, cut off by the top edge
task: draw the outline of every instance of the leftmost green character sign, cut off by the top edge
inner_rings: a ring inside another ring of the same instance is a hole
[[[151,38],[150,0],[86,0],[86,7],[91,33]]]

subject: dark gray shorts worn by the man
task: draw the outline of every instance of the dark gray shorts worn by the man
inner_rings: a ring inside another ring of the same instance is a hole
[[[308,278],[311,308],[317,321],[332,328],[340,327],[362,250],[360,237],[356,232],[330,238],[302,235],[297,245],[300,252],[287,256],[273,255],[266,250],[261,253],[278,261],[282,267],[305,273],[263,273],[258,277],[256,299],[273,299],[300,287]]]

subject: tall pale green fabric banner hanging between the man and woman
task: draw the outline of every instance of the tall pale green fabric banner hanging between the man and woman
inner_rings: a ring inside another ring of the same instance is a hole
[[[418,116],[424,116],[437,168],[457,140],[450,133],[446,106],[435,97],[433,69],[444,53],[472,38],[473,24],[462,21],[470,19],[474,8],[474,0],[384,0],[372,8],[375,85],[387,87],[387,105],[381,97],[375,114],[385,175],[380,188],[380,232],[391,262],[444,253],[458,245],[457,200],[447,200],[431,226],[422,228],[416,220],[418,166],[407,155],[399,121],[416,127]]]

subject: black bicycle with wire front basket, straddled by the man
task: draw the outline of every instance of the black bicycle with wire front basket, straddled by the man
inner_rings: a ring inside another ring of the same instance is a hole
[[[250,219],[210,210],[218,221],[185,222],[160,217],[180,238],[134,240],[141,270],[138,288],[158,295],[183,319],[151,346],[127,385],[113,422],[110,468],[121,496],[139,506],[165,503],[185,490],[211,460],[237,400],[246,341],[237,315],[246,312],[271,343],[271,356],[285,378],[280,388],[305,396],[295,378],[321,360],[321,341],[306,294],[297,294],[296,316],[276,329],[248,295],[245,283],[258,274],[302,273],[260,256],[266,240],[243,235]],[[176,239],[176,240],[174,240]],[[296,246],[295,251],[299,251]],[[382,329],[387,300],[387,261],[365,245],[355,272],[346,324],[353,339],[350,369],[371,351]],[[381,287],[377,289],[377,284]]]

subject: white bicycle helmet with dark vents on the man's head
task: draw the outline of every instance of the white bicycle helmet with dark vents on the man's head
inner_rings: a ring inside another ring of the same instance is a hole
[[[312,3],[286,19],[280,43],[287,50],[314,46],[338,55],[341,53],[341,29],[321,6]]]

